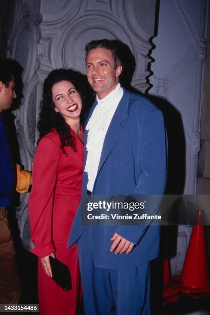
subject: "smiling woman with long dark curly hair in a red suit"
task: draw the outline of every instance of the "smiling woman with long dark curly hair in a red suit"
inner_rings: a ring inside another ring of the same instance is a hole
[[[40,141],[33,164],[29,220],[38,263],[41,315],[73,315],[81,296],[77,245],[67,249],[71,224],[80,202],[83,172],[84,93],[80,76],[52,71],[43,87],[38,128]],[[69,267],[72,288],[63,291],[52,277],[49,256]]]

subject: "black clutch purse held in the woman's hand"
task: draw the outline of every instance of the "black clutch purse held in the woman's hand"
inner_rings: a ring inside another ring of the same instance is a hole
[[[64,291],[71,289],[71,275],[68,266],[63,264],[60,260],[50,257],[50,266],[52,270],[52,279]]]

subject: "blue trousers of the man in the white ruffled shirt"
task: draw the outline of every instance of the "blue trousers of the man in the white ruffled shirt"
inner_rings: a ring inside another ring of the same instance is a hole
[[[78,241],[85,315],[149,315],[150,262],[128,269],[96,267],[90,228]]]

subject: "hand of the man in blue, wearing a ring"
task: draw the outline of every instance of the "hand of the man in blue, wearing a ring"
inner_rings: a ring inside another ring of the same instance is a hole
[[[118,233],[114,233],[113,236],[110,238],[113,241],[112,246],[110,247],[110,251],[114,252],[114,254],[129,254],[133,246],[131,246],[131,242],[124,237],[120,236]]]

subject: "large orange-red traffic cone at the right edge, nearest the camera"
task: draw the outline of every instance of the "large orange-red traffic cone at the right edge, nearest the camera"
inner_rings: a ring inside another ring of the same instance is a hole
[[[181,275],[183,283],[181,292],[195,299],[210,294],[204,225],[201,224],[203,224],[203,212],[199,210],[196,214],[196,225],[193,226]]]

